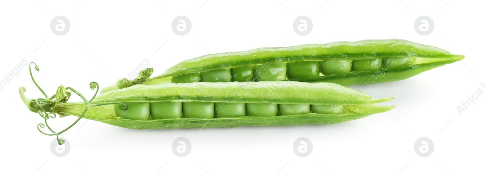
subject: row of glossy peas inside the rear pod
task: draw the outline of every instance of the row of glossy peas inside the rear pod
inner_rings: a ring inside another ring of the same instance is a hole
[[[261,65],[243,66],[232,69],[215,69],[173,76],[172,83],[191,82],[246,82],[246,81],[284,81],[294,78],[318,77],[323,75],[345,74],[351,71],[378,70],[414,64],[414,57],[374,58],[322,61],[300,61],[291,63],[269,62]]]

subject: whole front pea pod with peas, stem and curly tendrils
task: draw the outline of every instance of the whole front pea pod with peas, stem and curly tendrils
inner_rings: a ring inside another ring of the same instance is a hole
[[[37,126],[39,131],[51,136],[59,136],[81,118],[131,129],[296,126],[351,121],[394,107],[376,105],[393,97],[377,99],[333,83],[167,83],[134,85],[98,96],[97,83],[92,82],[90,88],[96,89],[90,100],[74,88],[62,85],[51,97],[40,89],[45,99],[26,98],[24,87],[19,89],[19,94],[29,110],[44,118],[45,123]],[[83,102],[68,103],[71,96],[68,90]],[[56,118],[56,114],[79,118],[65,130],[54,132],[47,120]],[[40,130],[45,127],[52,133]],[[59,140],[59,144],[62,142]]]

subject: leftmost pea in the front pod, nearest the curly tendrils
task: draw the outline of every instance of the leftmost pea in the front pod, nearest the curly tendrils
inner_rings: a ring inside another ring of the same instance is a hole
[[[121,104],[114,105],[114,114],[127,120],[148,120],[150,118],[150,103],[127,102],[127,110],[121,110]]]

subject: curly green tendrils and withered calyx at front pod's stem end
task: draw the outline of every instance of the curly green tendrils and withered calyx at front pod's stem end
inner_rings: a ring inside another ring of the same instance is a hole
[[[37,124],[37,130],[39,130],[39,132],[42,133],[42,134],[44,134],[44,135],[56,136],[57,143],[59,143],[59,145],[62,145],[65,142],[64,139],[59,139],[59,135],[61,135],[65,131],[69,130],[72,126],[74,126],[74,124],[76,124],[78,121],[80,121],[81,118],[84,116],[84,114],[89,109],[89,107],[100,106],[100,105],[107,105],[107,104],[121,104],[121,106],[120,106],[120,109],[121,110],[127,110],[128,109],[128,106],[126,104],[119,103],[119,102],[91,104],[91,102],[93,102],[93,100],[96,97],[97,92],[99,90],[99,85],[96,82],[91,82],[89,84],[89,88],[91,88],[91,90],[95,90],[96,89],[95,94],[93,95],[93,97],[89,101],[81,93],[79,93],[76,89],[74,89],[72,87],[64,87],[63,85],[60,85],[57,88],[57,91],[56,91],[56,94],[55,95],[53,95],[51,97],[48,97],[47,94],[44,92],[44,90],[42,90],[42,88],[40,88],[39,85],[33,79],[32,69],[31,69],[31,65],[32,64],[35,65],[34,66],[35,70],[40,71],[39,67],[34,62],[31,62],[29,64],[29,72],[30,72],[30,75],[31,75],[31,78],[32,78],[32,82],[40,90],[40,92],[42,92],[42,94],[44,94],[44,96],[46,97],[45,99],[39,98],[39,99],[32,100],[32,101],[35,101],[35,104],[37,106],[37,107],[32,107],[32,108],[34,110],[37,110],[37,113],[40,115],[40,117],[42,117],[44,119],[44,123]],[[76,121],[74,121],[71,125],[69,125],[67,128],[65,128],[64,130],[62,130],[60,132],[55,132],[54,130],[52,130],[52,128],[49,127],[49,124],[47,123],[47,120],[49,120],[49,118],[52,118],[52,119],[56,118],[56,114],[58,114],[59,117],[61,117],[61,118],[62,117],[65,117],[65,116],[68,116],[67,114],[60,113],[60,112],[57,112],[57,111],[54,110],[54,108],[56,106],[58,106],[59,104],[67,103],[67,101],[71,97],[71,92],[69,92],[67,90],[70,90],[70,91],[74,92],[76,95],[78,95],[79,97],[81,97],[81,99],[84,101],[84,104],[86,104],[86,108],[84,109],[84,111],[82,112],[82,114],[79,116],[79,118]],[[31,109],[31,111],[32,111],[32,109]],[[43,132],[41,130],[41,128],[45,128],[45,127],[47,127],[49,129],[49,131],[52,132],[52,133],[51,134],[48,134],[48,133]]]

